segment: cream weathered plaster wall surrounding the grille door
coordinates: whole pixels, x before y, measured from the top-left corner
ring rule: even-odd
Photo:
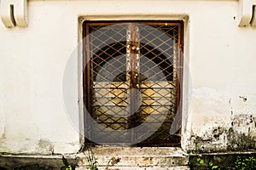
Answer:
[[[255,150],[256,29],[237,26],[237,1],[28,1],[28,27],[0,22],[0,152],[75,153],[79,127],[62,95],[84,20],[185,20],[183,149]],[[81,59],[69,110],[79,122]],[[75,123],[78,124],[78,123]]]

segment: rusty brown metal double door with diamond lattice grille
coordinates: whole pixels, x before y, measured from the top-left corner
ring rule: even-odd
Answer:
[[[85,133],[101,144],[179,146],[181,21],[85,22]],[[90,143],[90,140],[86,140]]]

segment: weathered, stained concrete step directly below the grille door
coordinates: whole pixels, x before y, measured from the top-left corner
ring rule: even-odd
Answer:
[[[189,169],[189,156],[174,147],[95,147],[78,156],[76,169],[88,169],[88,156],[92,154],[100,170]]]

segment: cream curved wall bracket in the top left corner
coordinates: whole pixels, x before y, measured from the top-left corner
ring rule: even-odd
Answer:
[[[0,0],[0,15],[6,27],[26,27],[27,0]]]

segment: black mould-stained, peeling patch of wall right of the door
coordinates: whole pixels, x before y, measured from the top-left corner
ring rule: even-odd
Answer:
[[[255,115],[239,114],[231,116],[228,125],[224,123],[214,125],[202,130],[203,133],[194,133],[191,136],[192,150],[201,153],[256,149]]]

